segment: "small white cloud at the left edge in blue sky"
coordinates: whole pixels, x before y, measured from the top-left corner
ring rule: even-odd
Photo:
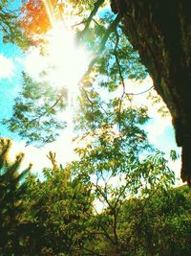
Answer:
[[[0,54],[0,79],[11,78],[14,69],[15,66],[13,60]]]

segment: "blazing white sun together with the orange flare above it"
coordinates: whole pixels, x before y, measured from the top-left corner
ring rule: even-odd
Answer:
[[[79,20],[71,1],[30,0],[23,8],[22,29],[33,48],[38,48],[35,56],[44,54],[39,61],[31,58],[33,70],[48,73],[46,80],[53,86],[74,90],[87,67],[86,51],[74,39],[73,25]]]

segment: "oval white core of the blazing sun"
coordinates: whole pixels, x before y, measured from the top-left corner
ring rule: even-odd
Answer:
[[[74,91],[88,64],[86,51],[77,47],[72,30],[57,23],[48,32],[46,52],[52,66],[50,80],[54,86]]]

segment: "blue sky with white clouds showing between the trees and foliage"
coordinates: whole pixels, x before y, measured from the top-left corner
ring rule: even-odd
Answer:
[[[16,3],[15,6],[17,6],[17,4],[18,3]],[[56,35],[53,36],[56,37]],[[68,41],[68,43],[66,43],[66,41]],[[13,100],[18,95],[22,85],[22,71],[26,71],[32,76],[32,78],[38,79],[41,70],[47,67],[49,61],[54,61],[55,65],[61,68],[58,69],[56,74],[53,74],[54,77],[50,77],[50,80],[55,77],[58,79],[57,81],[53,80],[53,85],[57,86],[57,83],[60,82],[61,79],[71,82],[74,85],[77,84],[76,81],[83,74],[87,65],[88,54],[84,53],[83,49],[74,49],[72,35],[63,34],[61,40],[59,40],[59,43],[61,44],[56,45],[56,43],[56,41],[52,41],[53,49],[50,48],[50,51],[53,51],[53,55],[51,58],[43,59],[40,57],[39,52],[34,48],[31,48],[28,52],[23,53],[17,46],[11,43],[4,44],[2,41],[2,34],[0,33],[0,119],[11,116]],[[63,49],[63,52],[61,53],[60,51],[55,53],[55,49],[63,48],[63,43],[65,43],[68,48]],[[73,56],[71,53],[73,53]],[[68,59],[66,59],[64,64],[63,58],[60,58],[60,55],[63,55],[64,58],[72,59],[71,62],[69,63]],[[78,62],[78,65],[76,65],[76,56],[81,60]],[[62,59],[61,65],[59,63],[60,59]],[[84,66],[82,63],[84,63]],[[65,77],[62,77],[63,68],[65,70],[68,68]],[[78,70],[78,74],[76,74],[75,77],[70,74],[71,69]],[[137,93],[150,88],[152,85],[152,80],[148,77],[140,84],[135,81],[126,81],[126,85],[129,92]],[[171,150],[180,152],[180,148],[177,148],[176,146],[174,128],[171,125],[171,118],[170,116],[162,118],[158,113],[159,105],[152,105],[151,101],[147,99],[147,96],[148,94],[135,96],[135,104],[148,106],[149,116],[151,117],[151,120],[147,126],[145,126],[145,129],[148,132],[148,138],[155,147],[157,147],[160,151],[164,151],[168,158]],[[73,110],[71,114],[72,113]],[[41,175],[42,168],[51,166],[50,160],[48,160],[46,156],[49,151],[55,151],[57,161],[62,164],[74,159],[74,146],[72,145],[72,138],[74,134],[71,132],[70,127],[63,130],[60,137],[55,142],[48,144],[41,149],[36,149],[33,146],[26,147],[25,142],[22,141],[19,136],[11,133],[2,125],[0,126],[0,135],[2,137],[11,137],[13,141],[11,157],[13,158],[19,151],[24,151],[25,160],[23,163],[23,169],[27,167],[29,162],[32,162],[32,171],[37,173],[39,176]],[[177,176],[180,176],[180,160],[176,161],[175,163],[170,162],[170,167],[175,170]]]

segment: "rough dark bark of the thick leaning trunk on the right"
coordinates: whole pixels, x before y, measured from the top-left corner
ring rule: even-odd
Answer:
[[[111,7],[171,112],[181,178],[191,185],[190,0],[111,0]]]

